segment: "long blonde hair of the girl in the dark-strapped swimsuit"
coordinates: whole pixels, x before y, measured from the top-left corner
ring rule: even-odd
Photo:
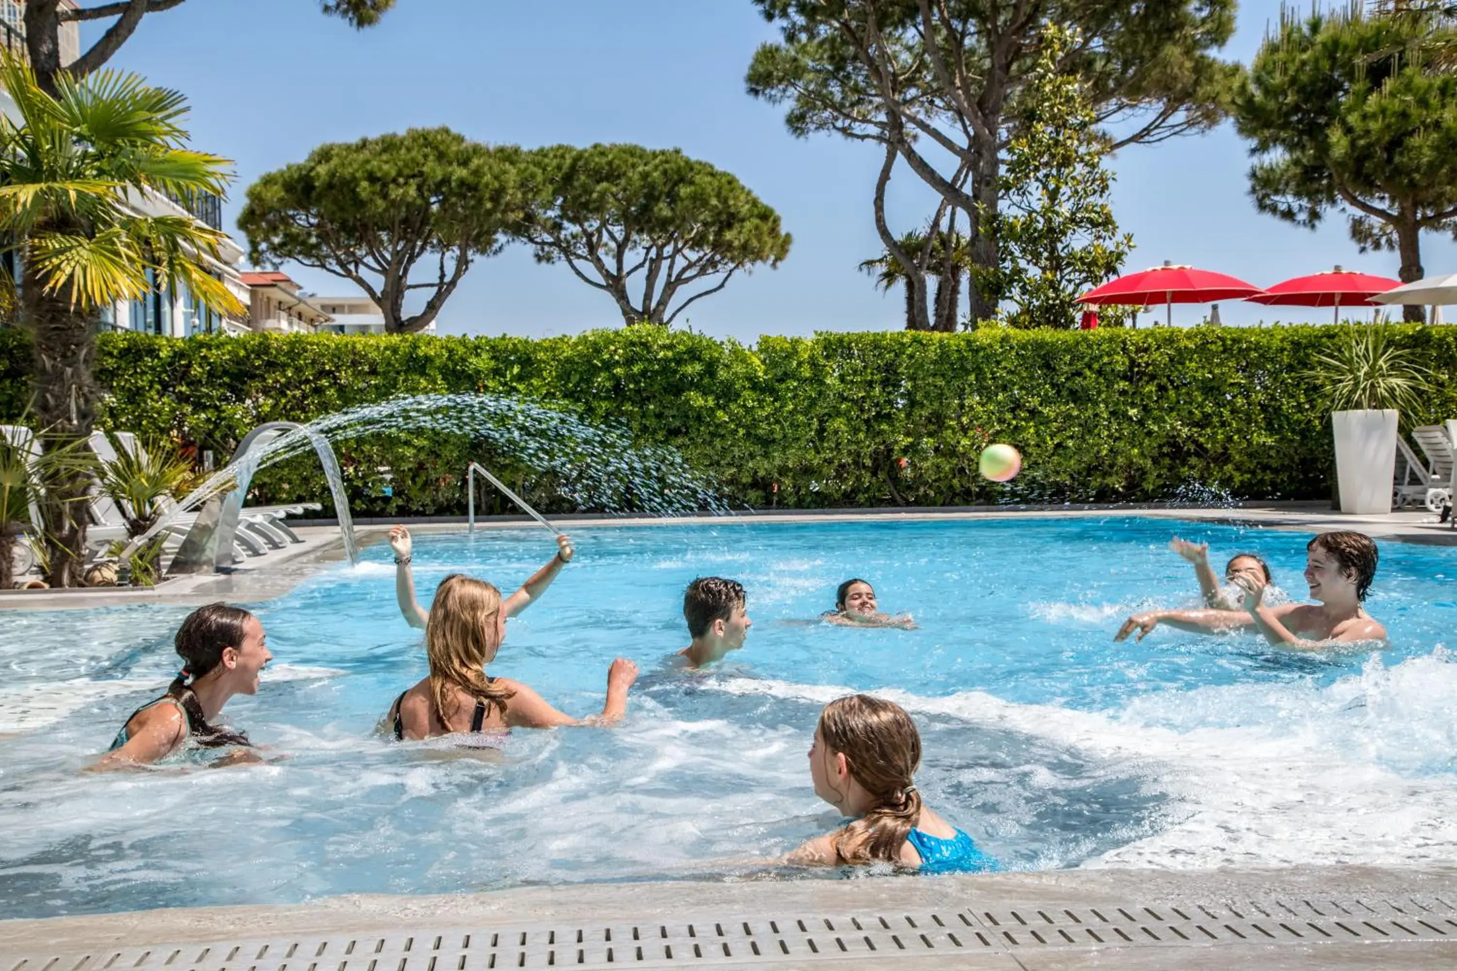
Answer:
[[[425,622],[425,657],[430,659],[430,703],[447,729],[450,715],[459,709],[456,689],[485,702],[506,718],[506,702],[516,691],[495,687],[485,680],[485,665],[501,646],[497,617],[501,591],[494,585],[450,574],[436,587]]]

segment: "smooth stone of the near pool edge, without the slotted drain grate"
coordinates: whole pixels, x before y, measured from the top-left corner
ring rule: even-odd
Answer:
[[[408,933],[520,924],[779,920],[889,914],[927,908],[1007,910],[1049,905],[1136,908],[1252,900],[1457,898],[1457,868],[1294,866],[1152,871],[1077,869],[937,878],[804,879],[785,882],[573,884],[452,895],[344,895],[291,905],[197,907],[0,920],[0,955],[70,958],[108,948],[268,940],[288,935]],[[1241,951],[1253,967],[1454,967],[1451,940],[1361,943],[1078,946],[1055,952],[959,955],[944,967],[1230,967]],[[916,964],[927,964],[925,958]],[[950,955],[947,955],[950,958]],[[975,958],[975,959],[972,959]],[[982,961],[985,958],[985,962]],[[941,961],[943,958],[932,958]],[[1109,964],[1112,961],[1112,964]],[[7,961],[12,965],[15,961]],[[82,961],[82,964],[86,964]],[[758,964],[758,962],[749,962]],[[844,965],[852,961],[841,961]],[[16,965],[22,967],[22,965]],[[23,967],[29,967],[25,964]],[[35,965],[39,968],[39,965]],[[270,965],[272,967],[272,965]],[[291,967],[291,964],[290,964]],[[305,965],[299,965],[305,967]],[[940,965],[937,965],[940,967]]]

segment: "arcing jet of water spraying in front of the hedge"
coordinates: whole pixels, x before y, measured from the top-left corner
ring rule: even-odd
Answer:
[[[557,491],[578,508],[605,512],[686,515],[731,512],[714,485],[678,451],[641,445],[627,428],[597,425],[570,412],[504,395],[415,395],[325,415],[251,448],[211,475],[144,536],[140,546],[175,518],[251,479],[259,469],[313,450],[319,437],[345,441],[363,435],[437,431],[484,440],[494,451],[557,476]],[[341,517],[348,511],[341,508]],[[351,556],[351,559],[356,559]]]

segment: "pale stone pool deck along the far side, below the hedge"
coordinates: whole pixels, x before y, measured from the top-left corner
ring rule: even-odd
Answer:
[[[951,507],[762,511],[731,517],[701,515],[675,518],[631,518],[600,515],[554,517],[565,530],[635,528],[660,526],[714,526],[731,528],[756,523],[954,523],[1016,518],[1106,518],[1138,515],[1174,521],[1225,523],[1273,530],[1319,533],[1359,530],[1381,540],[1457,546],[1457,530],[1437,523],[1431,512],[1402,511],[1386,515],[1345,515],[1327,502],[1257,502],[1250,505],[1190,508],[1169,505],[1053,505],[1053,507]],[[405,520],[356,520],[360,546],[385,540],[395,523],[409,526],[415,534],[459,533],[463,517],[427,517]],[[533,524],[525,515],[481,517],[478,530],[522,528]],[[90,590],[6,590],[0,591],[0,610],[66,610],[117,607],[138,603],[198,606],[214,600],[255,603],[280,597],[316,572],[319,563],[342,559],[338,526],[329,520],[300,520],[294,531],[303,543],[290,544],[268,556],[239,563],[226,575],[181,576],[150,590],[98,587]],[[1173,530],[1171,530],[1173,531]],[[0,971],[4,971],[0,968]]]

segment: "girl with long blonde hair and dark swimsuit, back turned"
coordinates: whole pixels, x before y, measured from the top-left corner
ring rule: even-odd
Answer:
[[[425,625],[430,677],[390,705],[385,724],[392,726],[395,738],[414,741],[506,728],[615,725],[622,719],[628,689],[637,680],[637,664],[627,658],[613,661],[608,668],[608,702],[602,715],[578,721],[558,712],[526,684],[485,673],[504,638],[501,591],[462,574],[440,581]]]

